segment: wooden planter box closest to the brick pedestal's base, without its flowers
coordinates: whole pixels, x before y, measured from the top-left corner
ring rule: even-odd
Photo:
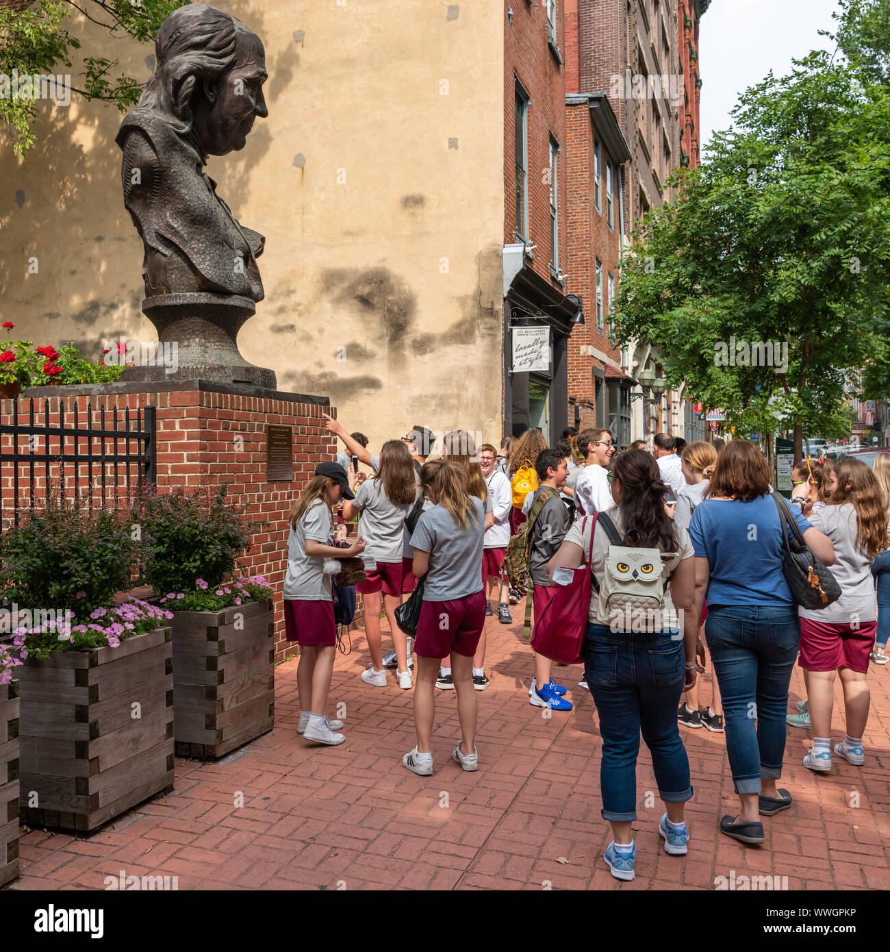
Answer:
[[[272,729],[272,602],[174,611],[174,737],[178,757],[212,760]]]

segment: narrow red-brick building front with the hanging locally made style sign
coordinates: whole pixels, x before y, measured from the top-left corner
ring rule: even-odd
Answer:
[[[540,426],[551,443],[568,418],[568,335],[582,313],[566,270],[562,2],[504,3],[504,432]],[[518,360],[517,347],[538,359]]]

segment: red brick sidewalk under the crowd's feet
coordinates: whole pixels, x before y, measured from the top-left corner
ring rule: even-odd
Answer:
[[[764,819],[760,849],[717,830],[738,804],[723,735],[682,727],[695,787],[691,839],[688,856],[666,856],[657,832],[663,806],[643,744],[637,878],[619,883],[603,863],[611,837],[600,816],[600,740],[592,699],[577,686],[581,668],[555,667],[576,709],[546,720],[527,701],[532,663],[521,605],[513,617],[510,626],[486,619],[491,684],[479,695],[478,773],[450,760],[460,737],[451,691],[436,692],[435,773],[405,770],[402,755],[414,745],[411,692],[392,678],[386,689],[363,684],[365,638],[352,632],[328,705],[333,716],[346,704],[346,744],[312,746],[299,737],[297,662],[287,662],[276,670],[274,731],[216,764],[177,761],[167,797],[90,837],[23,835],[22,875],[9,888],[101,889],[121,870],[175,875],[180,889],[712,889],[731,870],[737,880],[787,876],[790,889],[890,887],[886,668],[870,676],[864,767],[836,763],[830,776],[816,777],[801,764],[809,732],[789,728],[781,785],[795,804]],[[709,681],[710,672],[702,700]],[[792,709],[801,690],[796,669]],[[834,733],[842,739],[837,713]]]

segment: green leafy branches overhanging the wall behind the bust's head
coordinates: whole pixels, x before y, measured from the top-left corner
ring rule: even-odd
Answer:
[[[0,73],[19,76],[56,74],[78,61],[78,85],[71,90],[86,99],[112,103],[122,112],[134,106],[143,84],[121,71],[120,61],[81,52],[69,32],[70,17],[80,14],[109,31],[113,39],[131,36],[140,43],[154,39],[161,24],[189,0],[35,0],[25,10],[0,7]],[[25,155],[34,145],[37,108],[32,98],[0,98],[0,117],[10,129],[13,149]]]

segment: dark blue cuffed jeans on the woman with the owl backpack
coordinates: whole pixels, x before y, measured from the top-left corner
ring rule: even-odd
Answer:
[[[665,803],[692,797],[689,759],[677,725],[684,657],[677,632],[616,633],[608,625],[587,625],[584,675],[600,715],[603,820],[637,819],[641,729],[659,796]]]

